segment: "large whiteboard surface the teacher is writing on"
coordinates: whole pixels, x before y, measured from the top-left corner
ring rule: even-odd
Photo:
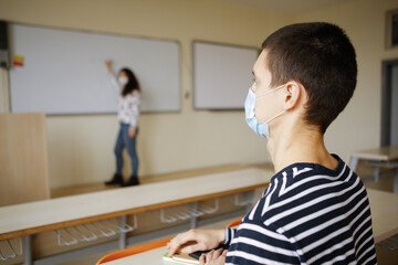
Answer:
[[[10,70],[14,113],[116,113],[119,92],[105,60],[136,74],[143,112],[180,109],[177,42],[10,24],[10,46],[23,56],[23,66]]]

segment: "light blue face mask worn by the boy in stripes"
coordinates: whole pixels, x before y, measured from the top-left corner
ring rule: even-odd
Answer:
[[[245,113],[245,120],[247,124],[249,125],[249,127],[254,130],[255,134],[258,134],[259,136],[269,139],[270,138],[270,129],[269,129],[269,123],[275,118],[277,118],[280,115],[282,115],[285,110],[280,112],[279,114],[276,114],[275,116],[273,116],[272,118],[270,118],[269,120],[261,123],[255,118],[255,98],[256,97],[262,97],[265,96],[272,92],[275,92],[280,88],[282,88],[285,85],[281,85],[279,87],[275,87],[269,92],[266,92],[265,94],[255,96],[255,94],[253,93],[253,91],[251,88],[249,88],[249,94],[248,97],[244,102],[244,113]]]

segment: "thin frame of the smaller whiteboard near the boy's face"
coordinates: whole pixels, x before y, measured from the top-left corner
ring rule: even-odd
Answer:
[[[205,40],[193,40],[191,43],[191,51],[192,51],[192,106],[195,110],[210,110],[210,112],[241,112],[244,110],[244,106],[242,105],[241,107],[230,107],[230,108],[209,108],[209,107],[198,107],[196,105],[196,93],[197,93],[197,88],[196,86],[196,67],[195,67],[195,63],[196,63],[196,57],[195,57],[195,44],[196,43],[203,43],[203,44],[211,44],[211,45],[219,45],[219,46],[226,46],[226,47],[239,47],[239,49],[245,49],[245,50],[251,50],[251,51],[256,51],[258,52],[258,56],[261,53],[261,49],[255,47],[255,46],[250,46],[250,45],[239,45],[239,44],[230,44],[230,43],[222,43],[222,42],[213,42],[213,41],[205,41]],[[254,63],[254,62],[253,62]],[[249,88],[249,87],[248,87]],[[243,99],[244,100],[244,99]]]

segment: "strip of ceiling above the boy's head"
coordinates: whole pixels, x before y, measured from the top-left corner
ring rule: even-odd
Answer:
[[[285,13],[303,13],[322,9],[331,6],[336,6],[347,0],[223,0],[226,2],[233,2],[240,6],[262,8],[269,11],[277,11]]]

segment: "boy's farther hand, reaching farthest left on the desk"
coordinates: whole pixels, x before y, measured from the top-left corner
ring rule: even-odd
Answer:
[[[178,234],[167,244],[168,255],[172,256],[177,250],[185,254],[212,250],[219,246],[224,237],[224,230],[190,230]]]

